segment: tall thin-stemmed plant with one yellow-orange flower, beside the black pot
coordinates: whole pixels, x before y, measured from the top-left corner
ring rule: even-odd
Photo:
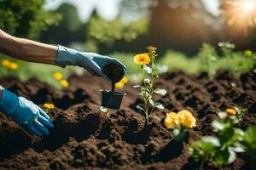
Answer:
[[[137,105],[137,109],[145,113],[147,122],[151,119],[155,108],[164,109],[164,106],[159,102],[154,102],[153,95],[160,94],[166,95],[166,90],[161,88],[154,88],[154,81],[159,77],[160,68],[156,67],[154,63],[156,49],[154,47],[148,47],[148,53],[137,54],[134,57],[134,62],[141,66],[143,75],[143,85],[134,86],[134,88],[140,88],[140,95],[143,96],[143,105]]]

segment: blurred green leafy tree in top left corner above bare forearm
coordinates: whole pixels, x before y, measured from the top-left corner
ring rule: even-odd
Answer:
[[[61,20],[45,11],[44,0],[0,0],[0,28],[17,37],[38,38],[41,31]]]

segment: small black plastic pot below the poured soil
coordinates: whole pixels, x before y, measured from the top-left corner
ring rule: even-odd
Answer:
[[[100,90],[102,92],[102,106],[108,109],[119,110],[123,97],[126,95],[122,92],[110,92],[109,90]]]

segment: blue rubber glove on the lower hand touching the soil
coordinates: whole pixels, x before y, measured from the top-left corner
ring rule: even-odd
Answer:
[[[38,105],[23,97],[18,97],[7,89],[2,91],[0,111],[11,116],[20,127],[38,136],[48,135],[47,127],[54,127],[49,116]]]

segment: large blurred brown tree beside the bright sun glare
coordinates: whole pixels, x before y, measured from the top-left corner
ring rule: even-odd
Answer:
[[[151,42],[194,55],[203,42],[218,42],[222,20],[210,14],[201,0],[158,0],[150,20]]]

